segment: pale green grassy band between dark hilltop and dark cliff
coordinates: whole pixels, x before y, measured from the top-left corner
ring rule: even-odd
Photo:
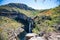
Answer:
[[[25,14],[28,17],[34,17],[34,16],[36,16],[39,13],[38,10],[32,10],[31,11],[31,10],[24,10],[24,9],[20,9],[20,8],[16,8],[16,7],[9,7],[9,6],[1,6],[0,10],[1,9],[5,9],[5,10],[8,10],[10,12],[23,13],[23,14]]]

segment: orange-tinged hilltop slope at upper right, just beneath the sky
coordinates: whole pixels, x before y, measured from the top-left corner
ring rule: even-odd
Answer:
[[[40,13],[43,13],[45,15],[52,15],[52,14],[60,13],[60,5],[55,7],[55,8],[51,8],[51,9],[47,9],[47,10],[42,10]]]

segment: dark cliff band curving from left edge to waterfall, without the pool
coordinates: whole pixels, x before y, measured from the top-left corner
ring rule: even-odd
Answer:
[[[33,19],[31,19],[30,17],[27,17],[23,13],[19,13],[19,12],[18,13],[17,12],[5,12],[5,11],[7,11],[7,10],[4,10],[4,12],[0,12],[0,16],[13,18],[17,22],[22,23],[24,25],[23,29],[27,33],[29,33],[29,24],[31,23],[30,27],[31,27],[31,31],[32,31],[32,28],[34,27]]]

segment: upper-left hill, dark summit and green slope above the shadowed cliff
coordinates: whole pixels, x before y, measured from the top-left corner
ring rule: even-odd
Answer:
[[[28,17],[32,17],[37,11],[25,4],[21,3],[9,3],[7,5],[0,6],[0,12],[20,12]]]

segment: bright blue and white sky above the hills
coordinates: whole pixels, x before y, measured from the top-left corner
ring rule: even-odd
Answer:
[[[35,2],[34,0],[0,0],[0,6],[8,3],[23,3],[28,5],[29,7],[39,10],[50,9],[60,5],[58,2],[56,2],[56,0],[37,0],[37,2]]]

